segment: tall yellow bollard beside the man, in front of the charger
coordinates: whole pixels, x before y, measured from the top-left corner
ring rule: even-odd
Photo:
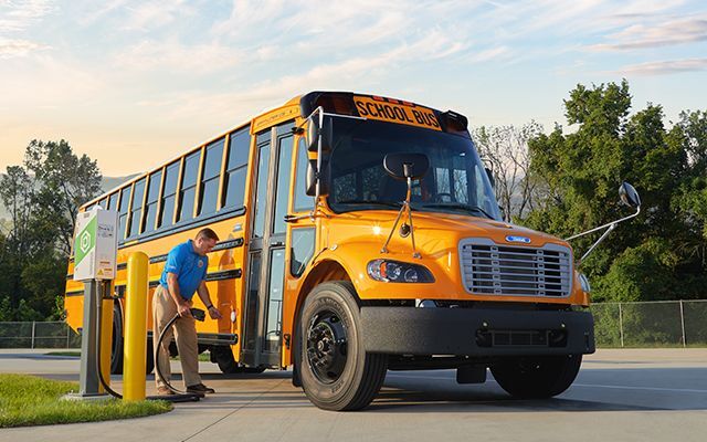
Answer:
[[[123,359],[123,399],[126,401],[145,400],[148,263],[143,252],[128,257]]]

